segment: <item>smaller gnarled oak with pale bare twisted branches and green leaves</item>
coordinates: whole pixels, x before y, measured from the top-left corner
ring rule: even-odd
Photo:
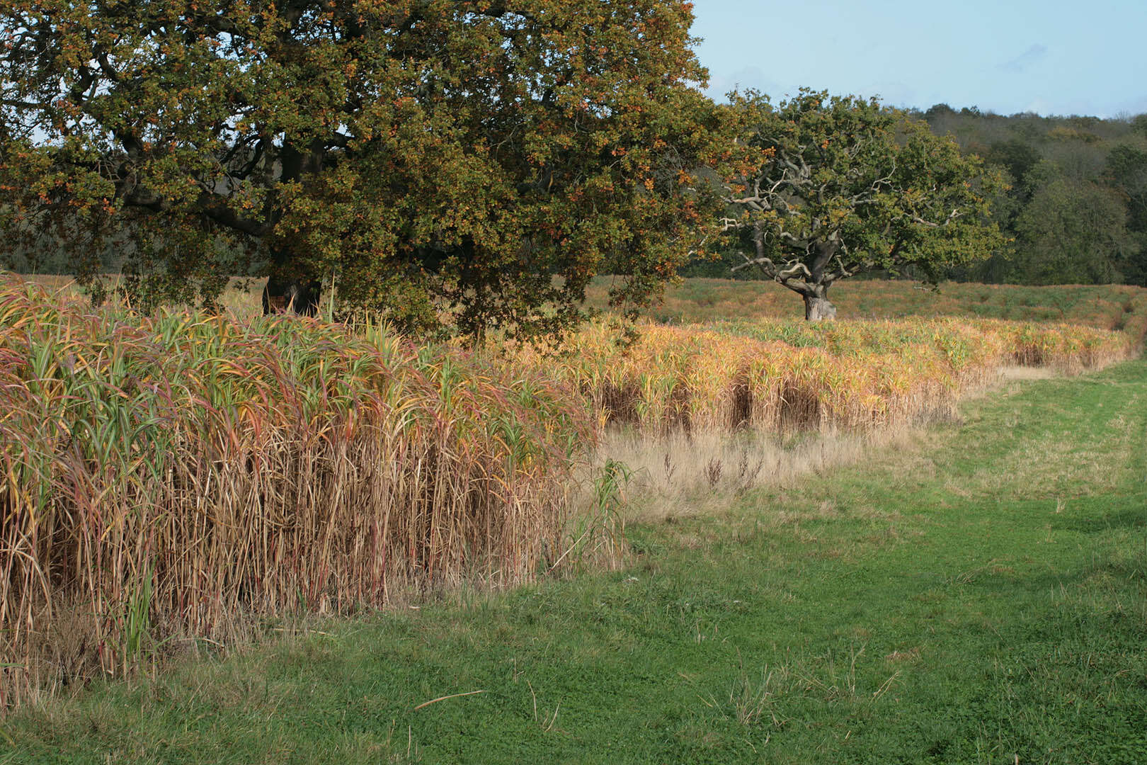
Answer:
[[[914,266],[935,282],[1000,241],[985,223],[999,177],[922,122],[812,91],[777,106],[734,93],[731,108],[758,159],[728,185],[721,228],[754,248],[736,268],[798,292],[806,319],[835,318],[828,288],[840,279]]]

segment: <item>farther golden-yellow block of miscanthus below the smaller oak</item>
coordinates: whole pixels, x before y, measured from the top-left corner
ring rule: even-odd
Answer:
[[[1078,372],[1136,352],[1125,333],[943,318],[645,323],[631,344],[601,322],[576,333],[556,359],[531,348],[510,356],[577,387],[603,424],[663,436],[903,427],[950,416],[1001,366]]]

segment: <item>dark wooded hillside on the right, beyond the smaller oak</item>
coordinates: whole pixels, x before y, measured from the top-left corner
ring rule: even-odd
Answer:
[[[992,202],[1006,243],[950,279],[1147,286],[1147,115],[1005,117],[947,104],[908,114],[1000,167],[1011,186]],[[731,252],[724,263],[693,264],[685,273],[727,275],[740,259]]]

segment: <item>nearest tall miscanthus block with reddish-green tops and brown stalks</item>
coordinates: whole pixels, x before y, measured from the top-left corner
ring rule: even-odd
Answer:
[[[593,434],[544,375],[380,327],[0,282],[0,705],[251,617],[522,580]]]

